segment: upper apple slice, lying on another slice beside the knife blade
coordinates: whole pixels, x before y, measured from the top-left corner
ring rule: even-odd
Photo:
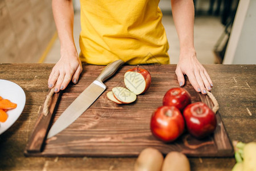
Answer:
[[[113,96],[121,103],[128,104],[136,100],[137,96],[135,93],[129,91],[124,87],[114,87],[112,88]]]

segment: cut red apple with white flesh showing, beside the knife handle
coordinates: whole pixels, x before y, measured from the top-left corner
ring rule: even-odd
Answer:
[[[140,95],[147,91],[151,84],[151,75],[149,72],[139,66],[132,68],[124,74],[125,86],[135,93]]]

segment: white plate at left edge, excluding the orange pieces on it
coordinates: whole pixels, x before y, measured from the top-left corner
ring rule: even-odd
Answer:
[[[11,109],[7,111],[7,115],[8,115],[7,120],[4,123],[0,122],[0,135],[1,135],[8,128],[10,128],[11,125],[13,125],[21,115],[25,107],[26,95],[23,89],[18,86],[18,84],[0,79],[0,96],[3,99],[8,99],[11,102],[17,104],[17,107],[15,109]]]

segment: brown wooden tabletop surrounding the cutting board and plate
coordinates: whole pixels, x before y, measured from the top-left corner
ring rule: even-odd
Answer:
[[[39,107],[48,93],[47,80],[53,66],[0,64],[0,79],[19,84],[26,93],[22,115],[0,135],[0,170],[133,170],[136,161],[133,157],[24,156]],[[90,66],[83,67],[86,72]],[[212,93],[220,104],[230,140],[256,141],[256,66],[208,64],[205,68],[213,80]],[[234,158],[193,157],[189,161],[192,170],[230,170],[235,164]]]

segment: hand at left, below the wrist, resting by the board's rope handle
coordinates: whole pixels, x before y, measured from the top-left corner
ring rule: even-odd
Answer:
[[[54,92],[59,92],[67,87],[71,79],[76,84],[82,71],[82,63],[77,54],[63,54],[52,68],[48,79],[48,87],[53,88],[55,85]]]

